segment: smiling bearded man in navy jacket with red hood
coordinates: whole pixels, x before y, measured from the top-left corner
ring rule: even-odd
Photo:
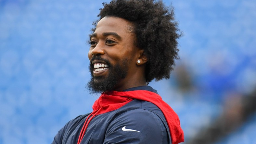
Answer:
[[[102,92],[93,112],[68,122],[53,144],[177,144],[184,141],[177,114],[147,86],[169,78],[181,36],[173,9],[161,1],[103,3],[90,35],[91,80]]]

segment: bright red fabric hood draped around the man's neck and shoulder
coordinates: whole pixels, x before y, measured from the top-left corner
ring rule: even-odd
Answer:
[[[107,91],[102,93],[99,99],[93,104],[93,111],[96,115],[116,110],[133,99],[152,102],[160,108],[168,124],[172,144],[178,144],[184,141],[184,133],[180,126],[178,115],[173,109],[162,100],[157,93],[147,90],[134,91]]]

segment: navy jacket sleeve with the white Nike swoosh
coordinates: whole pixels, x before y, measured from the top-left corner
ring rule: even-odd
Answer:
[[[125,112],[108,126],[104,144],[169,144],[167,130],[160,118],[143,109]]]

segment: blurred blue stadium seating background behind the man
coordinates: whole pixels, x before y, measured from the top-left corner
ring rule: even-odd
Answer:
[[[0,144],[47,144],[92,111],[88,34],[109,0],[0,0]],[[256,144],[256,1],[164,0],[184,36],[170,80],[151,82],[184,144]]]

